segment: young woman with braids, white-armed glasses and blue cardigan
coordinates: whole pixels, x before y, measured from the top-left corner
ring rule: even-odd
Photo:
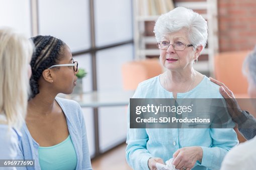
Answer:
[[[92,169],[86,125],[79,104],[56,97],[76,84],[78,63],[68,46],[51,36],[32,38],[32,95],[19,156],[34,159],[27,169]]]

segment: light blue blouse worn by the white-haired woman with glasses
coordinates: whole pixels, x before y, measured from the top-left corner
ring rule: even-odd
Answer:
[[[140,83],[133,98],[173,98],[173,93],[165,90],[159,76],[156,76]],[[205,76],[194,89],[178,93],[177,98],[223,97],[219,86]],[[136,170],[148,169],[150,157],[161,157],[166,161],[173,157],[175,151],[186,146],[201,146],[203,149],[202,162],[197,161],[193,169],[220,169],[225,154],[238,143],[232,128],[130,129],[129,113],[128,107],[126,159]]]

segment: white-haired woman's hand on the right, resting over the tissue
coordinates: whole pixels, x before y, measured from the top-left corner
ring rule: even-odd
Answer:
[[[173,165],[176,169],[190,170],[197,160],[202,161],[203,149],[200,146],[183,147],[178,149],[173,156]]]

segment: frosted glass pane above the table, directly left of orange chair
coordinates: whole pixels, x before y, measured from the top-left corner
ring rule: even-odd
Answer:
[[[122,64],[133,59],[133,45],[123,45],[97,54],[98,90],[122,90]]]

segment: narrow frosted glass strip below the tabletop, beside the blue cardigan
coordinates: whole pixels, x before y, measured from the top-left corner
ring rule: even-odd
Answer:
[[[92,108],[82,108],[84,120],[86,122],[87,139],[90,155],[95,154],[94,117]]]

